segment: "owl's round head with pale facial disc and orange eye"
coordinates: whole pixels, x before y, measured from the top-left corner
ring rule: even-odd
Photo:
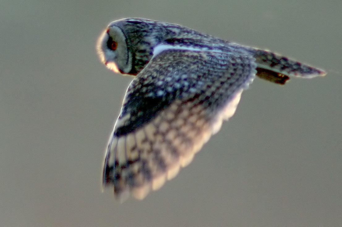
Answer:
[[[141,18],[111,22],[97,41],[101,61],[116,73],[136,75],[150,61],[153,47],[170,34],[165,24]]]

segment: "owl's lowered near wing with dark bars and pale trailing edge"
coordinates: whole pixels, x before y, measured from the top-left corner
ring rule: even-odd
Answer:
[[[230,118],[256,73],[250,54],[165,50],[133,79],[105,155],[103,184],[143,199],[188,165]]]

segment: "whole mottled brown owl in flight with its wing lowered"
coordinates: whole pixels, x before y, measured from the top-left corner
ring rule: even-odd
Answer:
[[[123,201],[143,199],[188,165],[233,116],[255,76],[285,84],[323,70],[270,51],[142,18],[114,21],[97,52],[107,68],[131,75],[110,134],[103,185]]]

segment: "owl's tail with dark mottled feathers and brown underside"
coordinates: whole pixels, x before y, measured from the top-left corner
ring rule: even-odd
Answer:
[[[250,49],[257,63],[257,76],[273,83],[285,84],[289,76],[300,78],[313,78],[325,76],[326,72],[275,54],[270,51],[260,49]]]

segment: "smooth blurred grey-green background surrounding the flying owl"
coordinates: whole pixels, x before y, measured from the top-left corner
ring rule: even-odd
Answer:
[[[0,225],[341,226],[342,2],[1,1]],[[95,42],[124,17],[178,23],[324,68],[255,79],[194,161],[143,201],[101,191],[131,77]]]

